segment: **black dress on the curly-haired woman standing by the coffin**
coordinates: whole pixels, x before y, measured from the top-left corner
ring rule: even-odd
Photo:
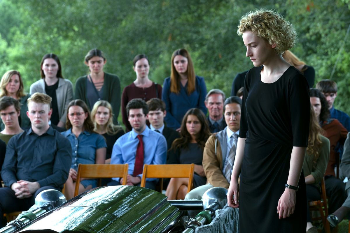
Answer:
[[[306,190],[303,174],[294,214],[279,219],[278,200],[288,180],[293,146],[306,147],[309,134],[309,88],[293,66],[273,83],[252,68],[244,83],[239,137],[245,141],[239,189],[239,232],[304,233]]]

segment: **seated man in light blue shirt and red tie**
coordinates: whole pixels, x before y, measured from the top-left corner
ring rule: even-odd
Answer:
[[[126,105],[132,130],[118,138],[113,146],[111,164],[128,163],[127,185],[140,186],[144,164],[165,164],[165,137],[146,126],[148,107],[144,100],[133,99]],[[138,160],[142,156],[142,161]],[[155,189],[157,179],[146,179],[146,188]],[[107,185],[120,185],[123,178],[112,178]]]

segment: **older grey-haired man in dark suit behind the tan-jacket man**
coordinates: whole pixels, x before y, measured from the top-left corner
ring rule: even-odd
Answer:
[[[205,96],[204,103],[209,111],[207,120],[211,133],[219,132],[226,127],[223,110],[224,100],[225,94],[219,89],[211,89]]]

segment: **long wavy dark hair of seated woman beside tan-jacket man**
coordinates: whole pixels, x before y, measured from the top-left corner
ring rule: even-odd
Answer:
[[[181,127],[180,127],[180,129],[181,129],[180,138],[177,138],[173,141],[173,144],[172,144],[172,147],[170,148],[170,150],[177,150],[180,148],[188,148],[188,145],[190,144],[190,141],[192,139],[191,134],[187,131],[187,128],[186,128],[187,117],[189,115],[196,116],[198,118],[199,122],[201,123],[201,130],[196,135],[196,141],[200,145],[200,147],[202,149],[204,149],[205,142],[207,142],[209,136],[211,135],[210,130],[209,130],[209,125],[208,125],[207,119],[205,118],[205,115],[201,109],[191,108],[186,112],[185,116],[182,119],[182,123],[181,123]]]

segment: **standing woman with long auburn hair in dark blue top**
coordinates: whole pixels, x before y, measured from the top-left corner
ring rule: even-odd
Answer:
[[[191,108],[199,108],[207,114],[207,108],[204,105],[206,94],[204,78],[195,75],[188,51],[176,50],[172,55],[170,77],[164,80],[162,91],[162,100],[166,104],[167,126],[180,131],[182,118]]]

